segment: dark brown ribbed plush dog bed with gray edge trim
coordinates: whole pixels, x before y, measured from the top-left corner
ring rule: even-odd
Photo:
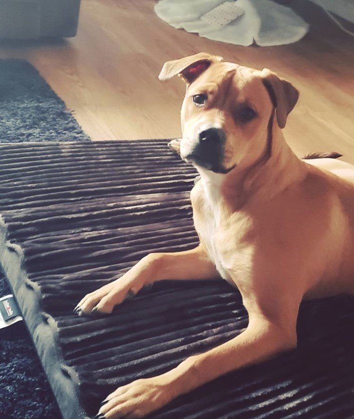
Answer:
[[[116,387],[162,373],[240,333],[237,289],[165,281],[112,315],[77,317],[88,292],[152,251],[196,246],[196,177],[166,140],[0,145],[0,261],[65,419],[94,415]],[[151,417],[350,417],[350,297],[302,306],[297,350],[173,400]]]

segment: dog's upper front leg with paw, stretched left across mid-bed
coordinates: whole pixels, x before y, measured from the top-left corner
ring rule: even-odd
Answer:
[[[76,306],[79,315],[111,313],[114,306],[143,286],[163,279],[210,279],[219,274],[202,245],[175,253],[151,253],[117,280],[87,294]]]

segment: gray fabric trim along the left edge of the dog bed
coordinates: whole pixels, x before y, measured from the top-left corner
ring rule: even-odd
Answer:
[[[64,418],[86,419],[88,416],[79,402],[77,374],[65,364],[58,344],[57,324],[48,313],[42,311],[40,287],[27,277],[23,266],[23,250],[7,240],[7,233],[6,224],[1,218],[0,261],[21,307],[54,395],[58,400],[67,400],[67,403],[59,405],[62,415]]]

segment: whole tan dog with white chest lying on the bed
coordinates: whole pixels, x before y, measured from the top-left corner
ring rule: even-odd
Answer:
[[[240,290],[249,325],[162,375],[118,388],[98,417],[142,417],[219,375],[294,348],[302,299],[354,293],[354,166],[305,162],[290,150],[280,128],[297,90],[269,70],[204,53],[166,63],[160,79],[175,75],[187,83],[181,156],[201,174],[191,193],[200,245],[146,256],[76,311],[110,313],[129,292],[164,278],[221,275]]]

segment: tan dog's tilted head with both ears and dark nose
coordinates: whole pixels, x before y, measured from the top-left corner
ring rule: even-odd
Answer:
[[[206,53],[168,61],[159,79],[176,75],[187,84],[181,157],[216,173],[256,161],[268,146],[273,116],[283,128],[298,99],[298,91],[268,69],[242,67]]]

